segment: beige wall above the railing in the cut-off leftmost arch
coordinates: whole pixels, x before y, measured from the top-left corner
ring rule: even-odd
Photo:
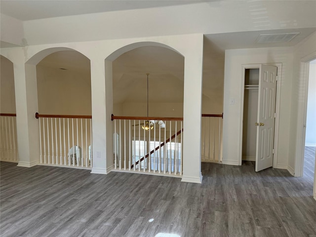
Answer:
[[[13,63],[3,56],[0,60],[0,113],[15,114]]]

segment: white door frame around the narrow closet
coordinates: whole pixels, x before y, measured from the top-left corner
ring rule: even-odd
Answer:
[[[274,135],[274,155],[273,155],[273,167],[274,168],[287,168],[279,167],[277,164],[277,152],[278,152],[278,130],[279,130],[279,111],[280,111],[280,94],[281,94],[281,79],[282,79],[282,63],[260,63],[260,64],[242,64],[241,65],[241,103],[240,103],[240,124],[239,124],[239,159],[238,165],[242,164],[242,129],[243,129],[243,104],[244,104],[244,87],[245,87],[245,70],[260,68],[261,65],[270,65],[277,68],[276,76],[276,120],[275,120],[275,135]]]

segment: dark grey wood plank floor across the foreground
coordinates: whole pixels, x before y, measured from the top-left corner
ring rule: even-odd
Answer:
[[[315,162],[315,158],[314,158]],[[308,165],[310,166],[310,165]],[[316,237],[313,178],[202,163],[179,178],[1,162],[1,237]]]

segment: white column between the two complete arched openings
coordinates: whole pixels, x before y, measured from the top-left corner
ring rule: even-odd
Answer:
[[[112,169],[112,62],[99,56],[90,57],[92,103],[92,170],[107,174]],[[106,69],[105,69],[106,68]],[[107,76],[107,77],[106,77]],[[111,78],[111,80],[105,78]]]

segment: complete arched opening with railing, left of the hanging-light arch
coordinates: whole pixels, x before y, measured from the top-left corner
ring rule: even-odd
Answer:
[[[45,49],[26,63],[26,79],[36,82],[39,163],[91,168],[90,60],[69,48]]]

